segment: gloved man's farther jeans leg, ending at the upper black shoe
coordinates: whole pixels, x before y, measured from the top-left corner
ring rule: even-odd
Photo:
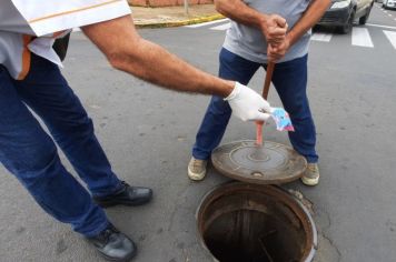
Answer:
[[[31,72],[16,84],[20,97],[44,121],[91,193],[99,196],[117,191],[121,183],[95,135],[92,120],[59,68],[33,56]]]

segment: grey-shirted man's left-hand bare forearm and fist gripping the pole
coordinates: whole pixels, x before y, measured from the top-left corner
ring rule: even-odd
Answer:
[[[286,20],[278,14],[260,13],[241,0],[215,0],[216,10],[231,20],[259,29],[270,43],[285,39]]]

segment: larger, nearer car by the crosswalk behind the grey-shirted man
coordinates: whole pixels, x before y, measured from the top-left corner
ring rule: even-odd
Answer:
[[[359,24],[366,23],[373,4],[374,0],[331,0],[330,7],[317,24],[335,26],[341,33],[349,33],[356,19]]]

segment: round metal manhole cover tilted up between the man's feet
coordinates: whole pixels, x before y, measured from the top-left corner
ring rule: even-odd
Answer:
[[[211,153],[214,167],[231,179],[259,184],[279,184],[297,180],[307,168],[306,159],[290,147],[254,140],[222,144]]]

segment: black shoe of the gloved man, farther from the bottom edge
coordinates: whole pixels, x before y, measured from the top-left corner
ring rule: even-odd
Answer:
[[[118,192],[106,196],[93,196],[97,204],[102,208],[109,208],[117,204],[140,205],[150,202],[152,190],[148,188],[130,187],[122,181],[122,189]]]

